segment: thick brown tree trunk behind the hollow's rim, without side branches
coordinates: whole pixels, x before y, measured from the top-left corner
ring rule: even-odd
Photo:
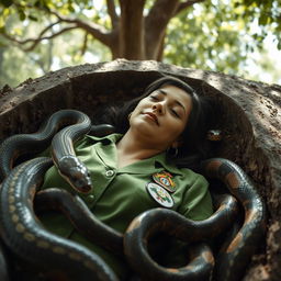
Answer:
[[[112,30],[109,45],[114,59],[160,60],[162,58],[166,29],[180,2],[157,0],[146,16],[145,2],[145,0],[120,0],[120,23]]]

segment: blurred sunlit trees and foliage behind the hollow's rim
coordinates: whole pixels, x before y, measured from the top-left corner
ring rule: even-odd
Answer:
[[[120,57],[280,81],[280,0],[0,0],[0,87]]]

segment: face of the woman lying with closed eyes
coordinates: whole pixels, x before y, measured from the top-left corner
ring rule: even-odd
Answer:
[[[190,94],[176,86],[166,85],[139,101],[132,112],[130,125],[160,149],[176,147],[191,108]]]

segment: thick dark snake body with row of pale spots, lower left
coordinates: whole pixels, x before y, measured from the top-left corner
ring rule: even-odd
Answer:
[[[104,261],[76,243],[46,232],[33,211],[49,158],[34,158],[14,168],[0,191],[0,227],[4,243],[33,265],[67,274],[69,280],[116,281]]]

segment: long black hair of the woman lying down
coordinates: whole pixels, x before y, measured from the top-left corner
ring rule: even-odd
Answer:
[[[207,139],[206,133],[210,128],[210,120],[212,117],[212,104],[209,98],[199,95],[196,91],[181,79],[172,76],[164,76],[145,89],[144,93],[122,106],[111,108],[106,122],[114,125],[115,132],[125,134],[130,127],[128,114],[134,111],[138,102],[153,91],[162,86],[170,85],[184,90],[192,101],[191,112],[189,114],[187,126],[181,134],[182,146],[178,148],[178,155],[167,153],[169,161],[173,161],[178,167],[187,167],[198,169],[200,160],[206,158]]]

